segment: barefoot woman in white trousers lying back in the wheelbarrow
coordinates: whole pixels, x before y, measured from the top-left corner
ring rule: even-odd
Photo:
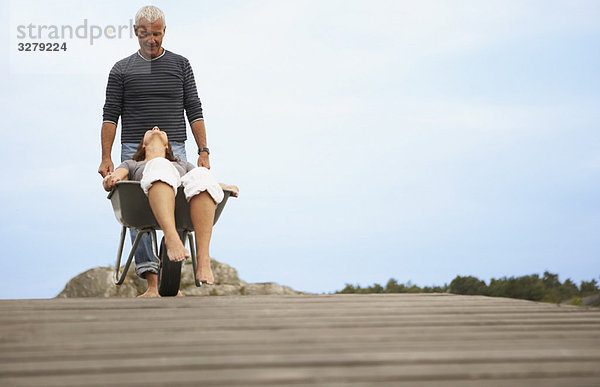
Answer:
[[[214,277],[208,250],[215,207],[223,200],[223,188],[233,191],[232,196],[237,196],[238,188],[219,184],[214,175],[204,167],[176,160],[167,134],[156,126],[146,132],[133,158],[104,178],[104,189],[110,191],[118,181],[127,179],[139,181],[148,196],[154,217],[165,234],[167,256],[173,262],[190,257],[175,225],[175,195],[177,188],[183,185],[196,234],[196,279],[212,285]],[[148,281],[148,290],[144,296],[159,296],[155,280]]]

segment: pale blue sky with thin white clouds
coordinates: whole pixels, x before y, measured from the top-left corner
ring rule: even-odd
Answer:
[[[114,264],[99,129],[138,46],[23,53],[16,26],[126,25],[144,3],[0,4],[0,298],[53,297]],[[213,171],[241,189],[211,250],[242,279],[598,278],[600,1],[153,4],[194,69]]]

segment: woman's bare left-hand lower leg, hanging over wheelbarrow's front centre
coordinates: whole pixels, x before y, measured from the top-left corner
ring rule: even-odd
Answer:
[[[173,188],[157,181],[148,190],[148,201],[152,213],[165,234],[167,256],[173,262],[181,262],[189,258],[190,253],[185,249],[175,227],[175,191]]]

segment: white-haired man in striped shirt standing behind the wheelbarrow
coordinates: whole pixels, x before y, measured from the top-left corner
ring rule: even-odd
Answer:
[[[198,166],[210,169],[194,74],[186,58],[162,47],[166,31],[163,12],[154,6],[141,8],[135,16],[134,30],[139,51],[117,62],[108,77],[101,129],[102,162],[98,173],[105,177],[114,171],[111,150],[119,117],[121,161],[133,156],[146,131],[154,126],[168,134],[175,157],[187,161],[184,110],[198,145]],[[132,240],[135,235],[137,232],[131,230]],[[149,235],[145,235],[135,253],[136,274],[148,282],[148,289],[140,297],[159,296],[159,263],[151,246]],[[208,267],[202,266],[198,274],[208,283],[212,282],[210,261]]]

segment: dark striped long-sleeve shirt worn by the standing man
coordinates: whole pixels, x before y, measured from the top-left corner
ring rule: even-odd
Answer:
[[[183,56],[164,50],[147,60],[136,52],[110,71],[103,122],[116,125],[121,117],[121,142],[139,143],[154,126],[170,141],[185,141],[184,109],[190,124],[203,119],[194,73]]]

